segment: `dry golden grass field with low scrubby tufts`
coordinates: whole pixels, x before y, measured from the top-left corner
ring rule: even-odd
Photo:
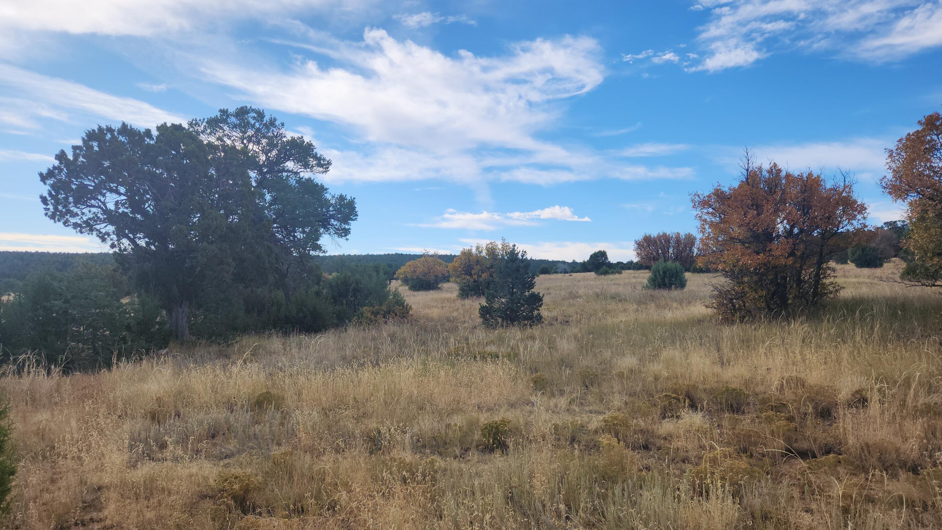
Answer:
[[[456,287],[404,323],[4,377],[17,528],[938,528],[942,297],[724,326],[645,272],[546,276],[544,325]]]

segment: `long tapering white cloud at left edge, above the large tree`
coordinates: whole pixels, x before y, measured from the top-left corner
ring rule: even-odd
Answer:
[[[144,127],[185,121],[151,104],[9,64],[0,63],[0,87],[8,88],[10,94],[0,98],[0,121],[24,127],[37,128],[37,118],[70,120],[72,114],[124,120]]]

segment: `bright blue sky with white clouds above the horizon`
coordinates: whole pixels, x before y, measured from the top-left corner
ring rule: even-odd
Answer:
[[[100,249],[42,215],[37,173],[99,123],[260,106],[333,160],[360,218],[332,252],[630,259],[694,232],[743,147],[853,171],[942,104],[942,2],[7,0],[0,249]]]

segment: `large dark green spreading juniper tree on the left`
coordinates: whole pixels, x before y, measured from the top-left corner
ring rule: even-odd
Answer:
[[[98,126],[56,162],[40,174],[46,216],[115,249],[178,340],[191,309],[290,299],[315,276],[321,239],[346,238],[357,217],[313,178],[331,166],[314,144],[251,107],[153,132]]]

